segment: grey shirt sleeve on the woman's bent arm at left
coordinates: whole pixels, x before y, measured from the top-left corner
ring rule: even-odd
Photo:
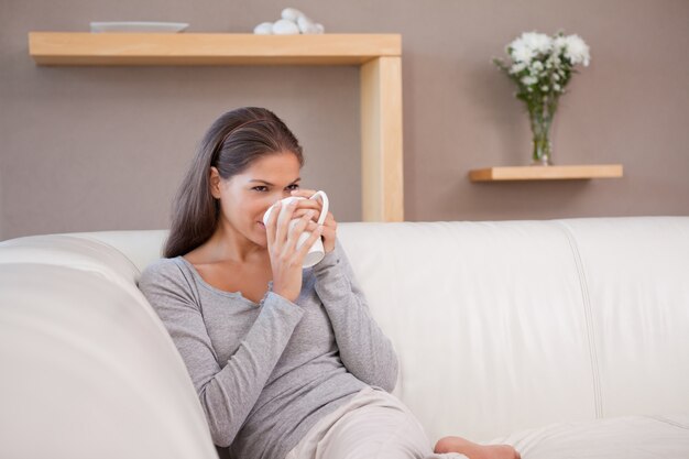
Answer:
[[[214,442],[230,446],[299,323],[303,308],[269,289],[253,326],[221,368],[198,300],[179,266],[169,260],[150,266],[139,288],[182,354]]]

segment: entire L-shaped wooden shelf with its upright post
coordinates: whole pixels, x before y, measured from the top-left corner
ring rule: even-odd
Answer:
[[[362,220],[403,221],[402,36],[30,32],[37,65],[358,65]]]

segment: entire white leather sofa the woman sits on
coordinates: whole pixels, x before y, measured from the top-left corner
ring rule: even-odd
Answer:
[[[689,458],[689,217],[340,223],[433,441]],[[135,286],[165,231],[0,243],[0,457],[214,458]]]

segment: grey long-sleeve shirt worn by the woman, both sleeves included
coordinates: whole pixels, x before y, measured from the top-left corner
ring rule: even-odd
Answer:
[[[367,384],[394,389],[397,359],[339,241],[304,270],[295,303],[272,282],[259,304],[215,288],[182,256],[146,267],[139,287],[186,363],[214,442],[234,458],[284,458]]]

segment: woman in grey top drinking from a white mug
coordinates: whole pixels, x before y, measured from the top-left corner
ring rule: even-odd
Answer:
[[[140,288],[186,363],[214,442],[233,458],[435,457],[389,394],[397,360],[369,315],[332,214],[318,226],[319,201],[280,209],[282,198],[314,193],[299,189],[303,164],[298,141],[271,111],[222,114],[179,188],[165,259],[144,271]],[[281,211],[264,226],[272,205]],[[303,231],[311,236],[297,250]],[[326,256],[303,269],[317,238]],[[517,457],[460,437],[436,451]]]

